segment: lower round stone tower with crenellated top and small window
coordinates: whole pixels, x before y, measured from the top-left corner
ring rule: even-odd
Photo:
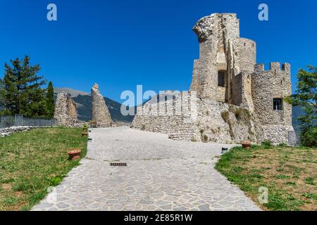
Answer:
[[[256,65],[252,74],[252,98],[254,112],[258,115],[263,128],[263,139],[273,143],[289,143],[292,127],[292,106],[284,98],[291,94],[290,64],[271,63],[270,70],[264,65]],[[273,110],[273,98],[282,98],[282,110]]]

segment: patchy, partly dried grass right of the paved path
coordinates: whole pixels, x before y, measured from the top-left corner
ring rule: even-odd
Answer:
[[[317,210],[317,149],[259,146],[235,148],[216,169],[237,184],[263,210]],[[259,204],[259,187],[268,204]]]

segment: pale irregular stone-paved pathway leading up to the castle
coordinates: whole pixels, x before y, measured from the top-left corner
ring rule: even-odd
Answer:
[[[93,129],[89,136],[81,165],[33,210],[259,210],[213,168],[219,144],[127,127]]]

